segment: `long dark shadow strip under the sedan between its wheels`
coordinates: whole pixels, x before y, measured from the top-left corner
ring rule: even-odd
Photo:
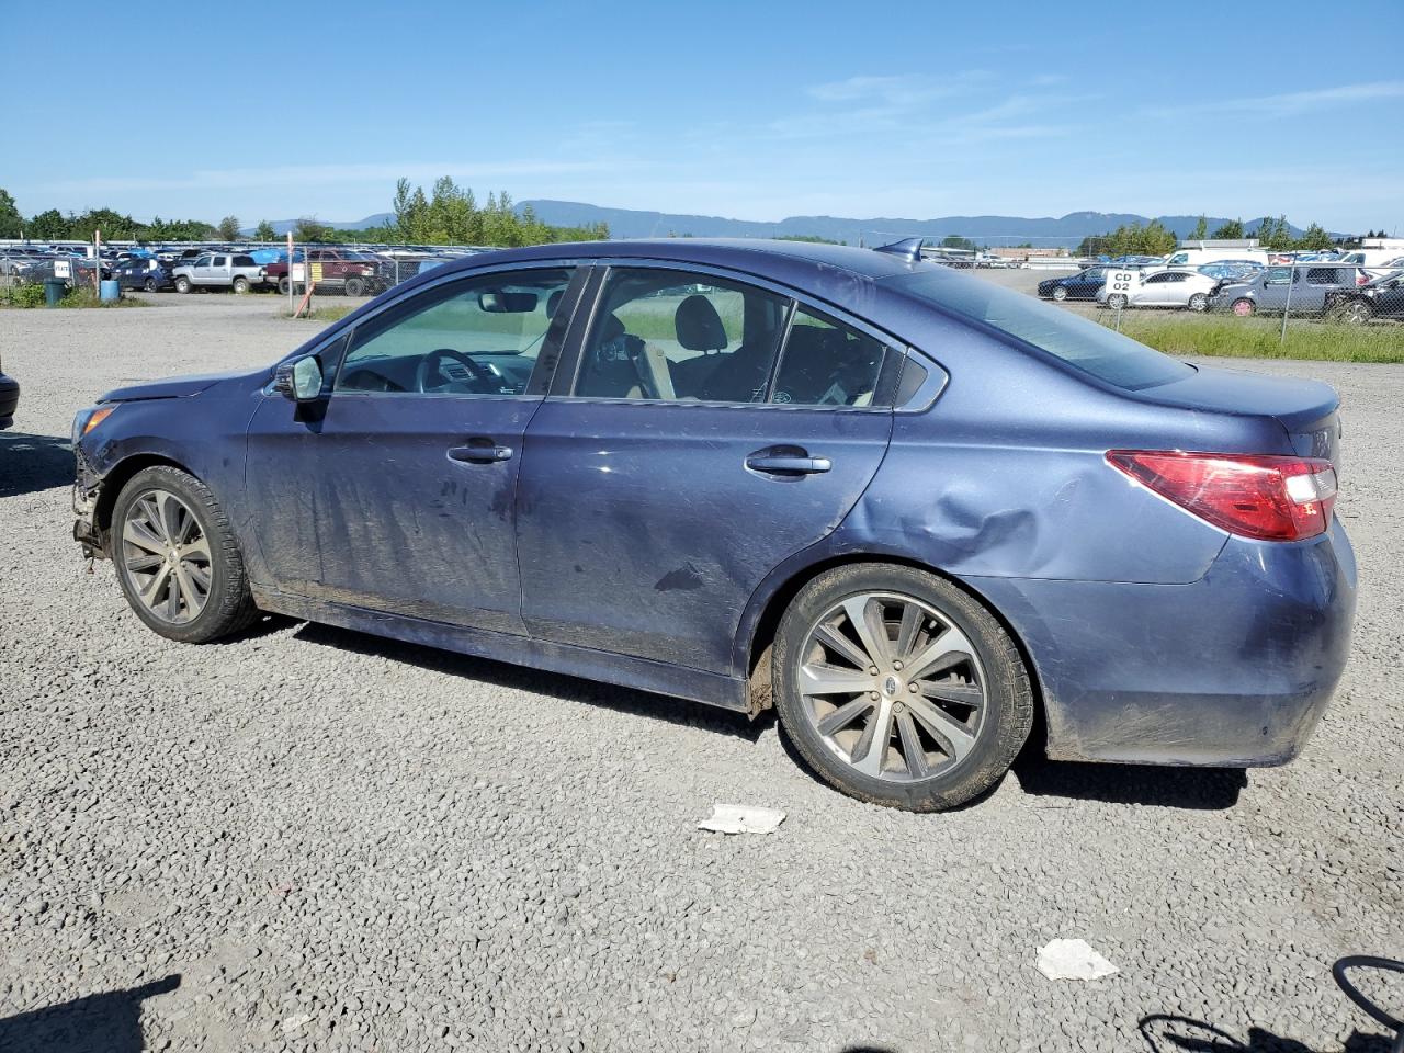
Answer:
[[[448,673],[463,680],[476,680],[498,688],[515,688],[538,695],[550,695],[566,702],[581,702],[590,706],[604,706],[621,713],[646,716],[670,724],[703,727],[709,731],[731,734],[747,741],[757,741],[769,726],[768,720],[747,720],[744,715],[701,702],[689,702],[673,695],[654,695],[647,691],[619,688],[594,680],[567,677],[560,673],[546,673],[525,665],[477,658],[469,654],[404,643],[385,636],[371,636],[330,625],[305,622],[296,639],[320,643],[354,654],[373,654],[390,661],[417,665],[435,673]]]

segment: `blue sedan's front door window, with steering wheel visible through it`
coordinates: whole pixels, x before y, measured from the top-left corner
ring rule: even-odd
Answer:
[[[425,289],[357,326],[336,389],[524,395],[570,277],[498,271]]]

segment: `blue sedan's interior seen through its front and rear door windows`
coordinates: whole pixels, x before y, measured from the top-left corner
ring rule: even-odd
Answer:
[[[338,390],[522,395],[567,271],[448,286],[352,337]],[[618,268],[585,338],[574,395],[656,402],[869,406],[886,347],[788,296]],[[783,348],[782,348],[783,345]],[[776,371],[776,361],[779,369]],[[772,380],[774,376],[774,380]]]

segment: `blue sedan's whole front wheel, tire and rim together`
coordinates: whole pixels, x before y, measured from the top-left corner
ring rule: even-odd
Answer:
[[[156,465],[132,476],[117,496],[108,548],[126,602],[170,640],[208,643],[258,615],[227,517],[209,487],[178,468]]]

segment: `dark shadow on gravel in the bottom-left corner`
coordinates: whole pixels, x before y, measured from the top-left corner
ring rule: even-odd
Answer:
[[[48,1005],[0,1019],[0,1050],[45,1053],[139,1053],[142,1002],[180,987],[171,973],[140,987],[90,994],[60,1005]]]

